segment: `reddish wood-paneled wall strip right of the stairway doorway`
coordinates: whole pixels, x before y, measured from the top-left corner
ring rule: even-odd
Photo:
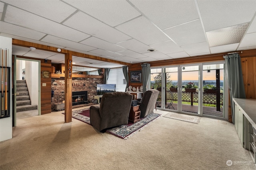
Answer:
[[[47,61],[47,63],[44,62],[44,59],[36,59],[31,57],[22,57],[17,56],[18,58],[23,59],[32,59],[32,60],[38,60],[41,61],[41,115],[46,113],[51,113],[51,93],[52,93],[52,78],[51,78],[51,72],[52,72],[52,63],[50,60]],[[49,71],[49,78],[43,78],[42,71],[46,70]],[[46,83],[46,86],[42,86],[43,83]]]

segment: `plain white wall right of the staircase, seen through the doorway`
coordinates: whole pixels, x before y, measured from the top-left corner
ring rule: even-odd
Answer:
[[[38,105],[38,62],[25,61],[26,82],[32,105]]]

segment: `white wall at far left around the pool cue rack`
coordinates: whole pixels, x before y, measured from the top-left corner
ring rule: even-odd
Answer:
[[[0,36],[0,48],[7,49],[7,66],[12,70],[12,39]],[[12,77],[10,77],[10,84],[12,84]],[[10,117],[0,119],[0,141],[12,139],[12,88],[9,91],[10,108],[8,109],[10,110]]]

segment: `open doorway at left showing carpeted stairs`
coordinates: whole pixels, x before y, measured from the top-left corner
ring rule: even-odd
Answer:
[[[16,126],[17,117],[23,119],[41,114],[41,61],[16,58],[16,56],[14,61],[13,126]]]

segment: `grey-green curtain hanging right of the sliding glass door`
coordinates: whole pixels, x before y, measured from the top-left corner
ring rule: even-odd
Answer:
[[[241,58],[239,54],[223,56],[226,64],[226,76],[230,94],[230,104],[232,111],[232,122],[235,123],[233,98],[246,98],[244,90],[244,80],[242,75]]]

